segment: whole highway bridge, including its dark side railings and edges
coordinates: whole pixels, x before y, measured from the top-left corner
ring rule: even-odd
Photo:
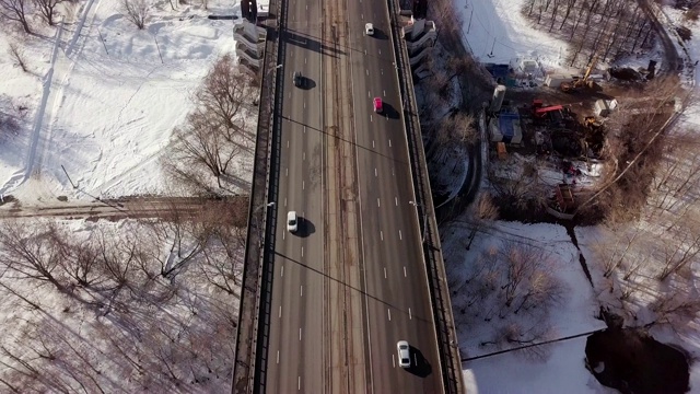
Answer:
[[[397,11],[270,4],[235,393],[463,390]]]

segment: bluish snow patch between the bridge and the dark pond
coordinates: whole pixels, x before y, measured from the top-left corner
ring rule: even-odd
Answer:
[[[448,275],[454,277],[456,274],[462,276],[460,280],[465,280],[474,269],[480,253],[490,248],[499,250],[503,240],[512,240],[540,248],[549,255],[549,269],[562,287],[564,297],[547,313],[522,312],[505,317],[499,317],[497,314],[491,318],[483,313],[478,316],[470,315],[470,309],[466,306],[468,300],[453,293],[453,310],[459,327],[457,335],[463,358],[478,358],[525,345],[499,343],[502,327],[512,324],[517,324],[527,333],[523,340],[527,340],[529,334],[541,329],[541,338],[537,341],[556,340],[605,328],[605,324],[594,317],[597,312],[594,291],[579,264],[579,252],[563,227],[497,222],[481,229],[481,234],[477,235],[467,251],[465,240],[469,229],[469,225],[456,224],[443,234]],[[454,263],[455,260],[462,263]],[[454,264],[460,264],[463,273],[455,273]],[[477,302],[478,310],[490,309],[494,305],[493,302],[493,299],[487,297],[483,301]],[[466,314],[463,313],[463,308],[466,308]],[[467,361],[463,367],[468,392],[606,393],[607,389],[585,369],[584,347],[585,336],[546,345],[535,355],[528,350],[518,350]]]

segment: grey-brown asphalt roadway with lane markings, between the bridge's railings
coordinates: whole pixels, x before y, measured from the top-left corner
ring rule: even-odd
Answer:
[[[266,392],[440,393],[387,4],[287,7]],[[411,345],[408,369],[398,340]]]

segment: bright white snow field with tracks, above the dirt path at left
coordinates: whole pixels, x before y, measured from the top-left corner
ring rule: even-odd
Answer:
[[[163,193],[159,158],[167,153],[173,129],[190,112],[191,95],[214,60],[235,56],[232,21],[206,16],[233,14],[240,5],[209,4],[172,11],[161,2],[138,31],[117,1],[81,1],[62,31],[45,28],[48,37],[31,39],[31,73],[0,60],[9,71],[0,96],[28,107],[21,138],[0,155],[0,193],[44,204],[58,196]],[[3,56],[9,40],[0,35]],[[248,154],[235,166],[236,175],[250,176]]]

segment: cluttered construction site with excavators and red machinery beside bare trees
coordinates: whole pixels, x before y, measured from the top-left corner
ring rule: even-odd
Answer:
[[[654,78],[653,60],[645,69],[604,71],[596,69],[593,55],[580,73],[539,78],[533,77],[535,70],[527,60],[486,66],[498,83],[491,101],[485,103],[482,124],[489,141],[490,182],[500,197],[511,200],[513,211],[537,208],[540,215],[572,219],[604,178],[609,118],[620,105],[661,106],[662,119],[679,112],[679,102],[658,105],[633,97],[634,84]],[[626,79],[629,76],[633,78]],[[501,207],[511,202],[501,201]]]

